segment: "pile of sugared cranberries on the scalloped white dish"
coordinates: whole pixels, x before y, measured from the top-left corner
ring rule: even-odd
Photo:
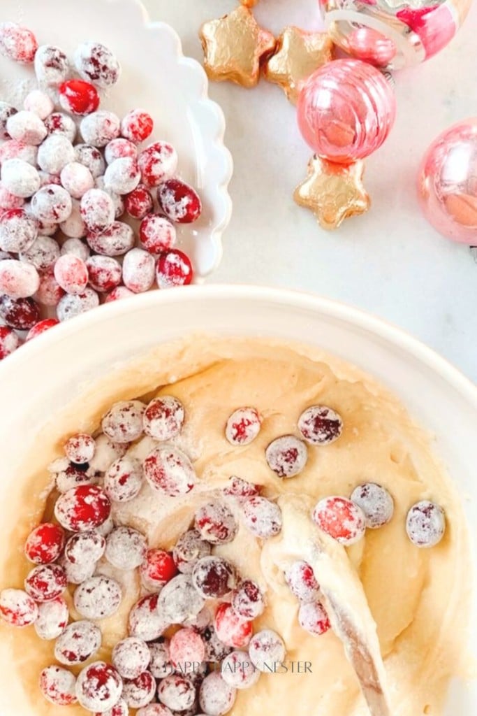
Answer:
[[[70,62],[28,29],[0,24],[0,52],[33,64],[39,89],[0,102],[0,359],[100,303],[192,281],[176,225],[199,195],[177,178],[177,153],[142,109],[99,108],[119,62],[99,42]]]

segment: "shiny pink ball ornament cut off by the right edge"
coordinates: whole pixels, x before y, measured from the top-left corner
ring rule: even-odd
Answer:
[[[418,172],[418,199],[429,223],[447,238],[477,244],[477,117],[432,142]]]

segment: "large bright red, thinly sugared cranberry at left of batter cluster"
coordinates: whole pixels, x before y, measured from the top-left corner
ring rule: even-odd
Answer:
[[[70,532],[87,532],[102,525],[109,517],[111,503],[97,485],[79,485],[60,495],[54,514],[60,525]]]

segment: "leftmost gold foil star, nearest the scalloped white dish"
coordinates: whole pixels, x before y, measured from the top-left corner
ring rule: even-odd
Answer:
[[[275,49],[275,37],[262,29],[243,5],[203,24],[200,39],[210,79],[230,79],[243,87],[255,87],[260,78],[260,61]]]

